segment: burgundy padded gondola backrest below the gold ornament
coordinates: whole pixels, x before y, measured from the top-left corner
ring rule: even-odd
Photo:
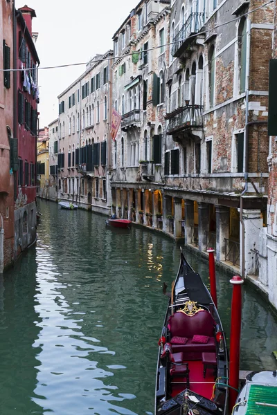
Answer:
[[[215,321],[212,315],[204,310],[189,316],[184,313],[175,313],[170,317],[169,329],[172,336],[193,338],[197,335],[213,336]]]

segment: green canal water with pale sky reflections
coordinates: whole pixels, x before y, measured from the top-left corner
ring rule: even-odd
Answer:
[[[39,201],[36,246],[0,279],[0,413],[152,414],[160,337],[179,248],[161,234]],[[208,264],[186,253],[208,284]],[[230,275],[217,272],[227,337]],[[277,324],[243,288],[241,369],[271,369]]]

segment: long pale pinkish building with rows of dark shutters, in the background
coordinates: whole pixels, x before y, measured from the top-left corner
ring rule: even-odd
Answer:
[[[108,213],[112,50],[96,55],[59,99],[58,197]]]

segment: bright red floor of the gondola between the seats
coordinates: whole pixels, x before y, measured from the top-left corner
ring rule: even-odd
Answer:
[[[190,369],[190,390],[205,398],[211,399],[211,396],[213,395],[213,385],[215,385],[213,369],[208,369],[206,371],[206,377],[204,378],[202,360],[188,360],[188,367]],[[186,379],[182,379],[180,376],[178,376],[178,378],[174,377],[171,385],[173,398],[186,389]]]

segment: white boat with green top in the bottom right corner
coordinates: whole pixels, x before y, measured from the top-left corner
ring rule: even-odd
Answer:
[[[232,414],[277,414],[277,371],[251,372],[238,394]]]

